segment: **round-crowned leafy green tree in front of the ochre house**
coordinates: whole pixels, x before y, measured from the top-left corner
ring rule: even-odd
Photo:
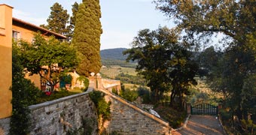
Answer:
[[[45,40],[40,34],[35,34],[35,42],[30,44],[21,40],[20,49],[27,72],[39,74],[52,90],[59,83],[62,71],[75,68],[78,63],[75,49],[54,37]]]

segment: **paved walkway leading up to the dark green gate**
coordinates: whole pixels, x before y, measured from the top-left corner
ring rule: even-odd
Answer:
[[[187,127],[172,132],[174,135],[222,135],[224,130],[212,115],[191,115]]]

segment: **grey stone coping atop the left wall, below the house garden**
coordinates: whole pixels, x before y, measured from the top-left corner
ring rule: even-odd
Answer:
[[[81,97],[83,95],[87,95],[90,92],[92,92],[92,90],[93,90],[93,88],[88,88],[87,92],[78,93],[76,95],[70,95],[70,96],[59,98],[59,99],[56,99],[56,100],[53,100],[53,101],[46,101],[46,102],[41,103],[41,104],[34,104],[34,105],[29,106],[29,109],[30,110],[37,110],[38,108],[41,108],[41,107],[47,107],[47,106],[50,106],[52,104],[58,104],[58,103],[63,102],[63,101],[68,101],[69,99],[72,99],[72,98],[77,98],[77,97]]]

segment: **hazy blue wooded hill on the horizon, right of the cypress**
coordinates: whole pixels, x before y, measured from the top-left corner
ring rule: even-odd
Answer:
[[[123,51],[126,48],[114,48],[114,49],[102,49],[100,51],[100,56],[102,59],[117,59],[117,60],[126,60],[127,55],[123,55]]]

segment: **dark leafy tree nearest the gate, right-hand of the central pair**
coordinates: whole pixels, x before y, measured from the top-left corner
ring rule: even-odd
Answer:
[[[186,49],[175,50],[175,58],[172,60],[172,68],[169,71],[172,84],[171,106],[175,96],[178,96],[180,107],[184,107],[184,95],[190,95],[190,86],[197,85],[194,77],[197,74],[198,65],[191,59],[191,55],[192,53]]]

